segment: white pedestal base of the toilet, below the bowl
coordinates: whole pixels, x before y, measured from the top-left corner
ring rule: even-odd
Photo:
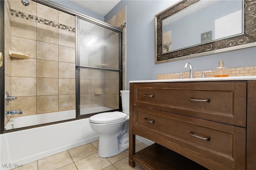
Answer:
[[[108,158],[124,152],[129,147],[129,143],[126,143],[126,141],[129,140],[124,139],[121,144],[119,144],[117,137],[110,139],[109,137],[100,135],[98,156]]]

